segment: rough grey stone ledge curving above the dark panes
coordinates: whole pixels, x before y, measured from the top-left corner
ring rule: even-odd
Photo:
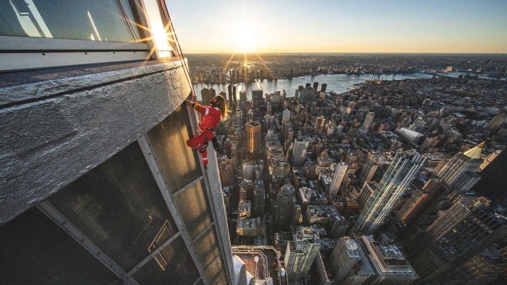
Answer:
[[[132,64],[0,87],[13,104],[0,109],[0,224],[137,140],[190,94],[181,62]]]

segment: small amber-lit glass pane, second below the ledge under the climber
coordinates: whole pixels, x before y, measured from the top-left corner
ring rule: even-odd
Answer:
[[[174,198],[192,239],[212,221],[205,191],[204,182],[201,180]]]

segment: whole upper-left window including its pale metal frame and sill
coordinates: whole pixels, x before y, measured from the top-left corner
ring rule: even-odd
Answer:
[[[145,34],[146,14],[136,2],[4,1],[0,6],[0,71],[151,59],[147,40],[153,44],[153,36]],[[157,5],[152,8],[158,9]],[[155,15],[158,19],[153,22],[162,21],[160,16]],[[168,43],[168,35],[159,37]],[[161,49],[170,56],[172,48],[167,43]]]

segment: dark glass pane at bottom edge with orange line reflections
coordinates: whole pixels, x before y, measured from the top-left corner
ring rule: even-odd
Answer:
[[[132,276],[139,284],[193,284],[199,272],[181,237],[165,247]]]

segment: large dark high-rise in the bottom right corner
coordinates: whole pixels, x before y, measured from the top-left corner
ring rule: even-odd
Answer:
[[[424,236],[422,253],[412,265],[420,276],[417,283],[436,281],[463,262],[507,237],[507,219],[489,208],[482,197],[457,201],[435,221]]]

